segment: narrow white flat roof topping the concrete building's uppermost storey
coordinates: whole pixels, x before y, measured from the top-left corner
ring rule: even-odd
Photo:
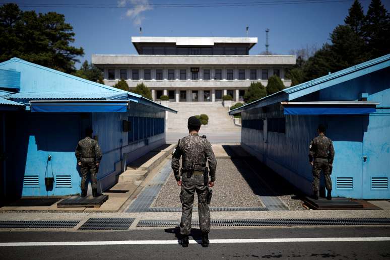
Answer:
[[[223,44],[246,44],[249,49],[257,43],[257,37],[140,37],[133,36],[132,43],[139,52],[142,43],[173,43],[177,46],[214,46]]]

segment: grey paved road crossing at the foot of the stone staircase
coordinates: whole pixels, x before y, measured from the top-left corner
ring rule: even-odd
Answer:
[[[165,139],[167,144],[177,143],[177,140],[187,136],[188,133],[166,133]],[[212,144],[240,144],[241,132],[224,132],[224,133],[208,133],[203,132],[202,128],[199,135],[207,136],[207,140]]]

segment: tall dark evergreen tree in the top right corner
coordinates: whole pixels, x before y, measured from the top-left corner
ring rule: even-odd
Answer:
[[[371,58],[390,53],[390,15],[380,0],[371,0],[364,19],[363,36]]]

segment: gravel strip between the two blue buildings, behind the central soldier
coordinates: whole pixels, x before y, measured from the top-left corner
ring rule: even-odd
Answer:
[[[177,186],[172,172],[153,207],[181,207],[179,193],[180,187]],[[193,206],[198,207],[197,196],[194,198]],[[216,182],[213,187],[213,199],[210,207],[263,206],[234,163],[230,159],[217,159]]]

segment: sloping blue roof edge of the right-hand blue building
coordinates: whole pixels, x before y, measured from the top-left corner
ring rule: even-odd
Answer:
[[[390,67],[390,54],[371,59],[369,61],[357,64],[353,67],[329,74],[327,76],[323,76],[290,88],[283,89],[275,94],[233,109],[229,112],[229,114],[237,114],[246,109],[267,106],[286,100],[293,100],[310,94],[312,92],[318,91],[320,89],[328,88],[341,82],[348,81],[353,78],[357,78],[387,67]]]

